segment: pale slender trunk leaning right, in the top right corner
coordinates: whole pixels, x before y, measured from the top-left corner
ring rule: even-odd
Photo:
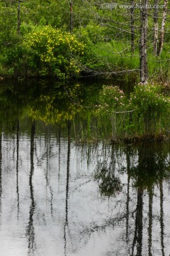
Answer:
[[[160,36],[159,36],[159,49],[158,49],[159,56],[162,54],[162,49],[164,46],[164,28],[165,28],[165,23],[166,23],[167,6],[168,6],[168,0],[164,0],[164,11],[162,14],[162,28],[161,28]]]

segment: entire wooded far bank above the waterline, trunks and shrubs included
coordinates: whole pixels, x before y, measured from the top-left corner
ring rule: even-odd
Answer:
[[[0,7],[1,77],[169,80],[168,0],[1,0]]]

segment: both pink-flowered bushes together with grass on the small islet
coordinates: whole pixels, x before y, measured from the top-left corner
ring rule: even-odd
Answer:
[[[170,98],[162,90],[162,85],[139,84],[128,97],[118,87],[103,87],[94,111],[100,120],[98,124],[109,127],[110,123],[110,136],[114,141],[166,134],[169,131]]]

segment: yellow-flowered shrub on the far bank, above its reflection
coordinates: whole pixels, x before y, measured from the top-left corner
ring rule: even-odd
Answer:
[[[26,35],[25,45],[40,75],[67,78],[79,74],[79,56],[84,53],[84,45],[75,35],[51,26],[35,26]]]

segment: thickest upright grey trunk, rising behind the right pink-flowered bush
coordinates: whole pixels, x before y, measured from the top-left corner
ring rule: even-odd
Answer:
[[[140,82],[147,82],[147,6],[149,0],[140,1]]]

